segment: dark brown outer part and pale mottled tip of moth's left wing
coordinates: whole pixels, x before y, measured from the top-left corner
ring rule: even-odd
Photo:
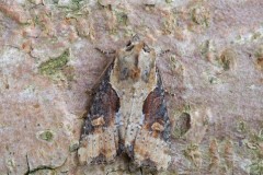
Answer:
[[[118,150],[118,133],[115,115],[119,100],[110,83],[111,65],[102,79],[85,118],[78,156],[80,164],[108,163]]]

